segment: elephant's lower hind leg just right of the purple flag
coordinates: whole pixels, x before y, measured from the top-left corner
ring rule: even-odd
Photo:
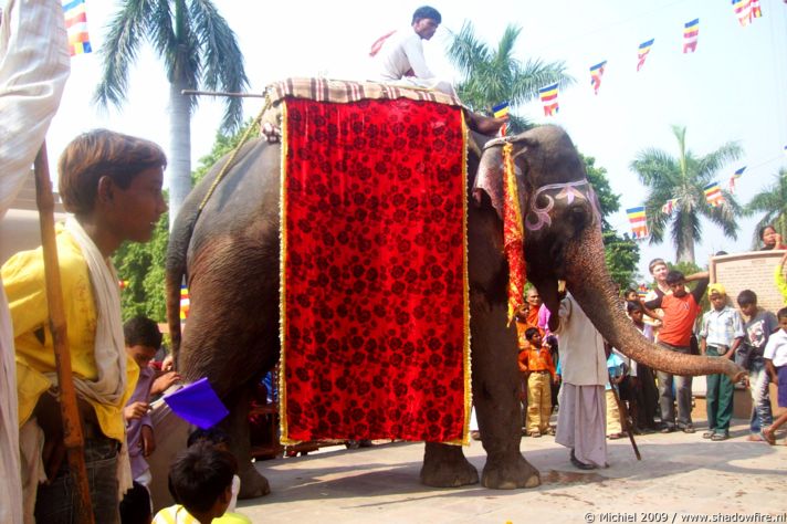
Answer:
[[[251,391],[244,388],[242,392],[228,399],[230,415],[221,427],[230,439],[230,450],[238,459],[238,476],[241,479],[239,499],[254,499],[271,492],[267,479],[260,474],[251,461],[251,434],[249,430],[249,408]]]

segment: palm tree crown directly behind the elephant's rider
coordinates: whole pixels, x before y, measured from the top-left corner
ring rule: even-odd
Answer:
[[[448,56],[459,69],[463,80],[457,86],[459,97],[473,111],[492,114],[501,102],[511,104],[508,129],[518,133],[529,127],[527,122],[513,114],[513,109],[538,97],[538,90],[557,82],[560,87],[575,81],[566,73],[563,62],[528,60],[513,56],[516,39],[522,28],[508,25],[496,50],[490,49],[475,36],[473,25],[465,22],[458,34],[452,34]]]

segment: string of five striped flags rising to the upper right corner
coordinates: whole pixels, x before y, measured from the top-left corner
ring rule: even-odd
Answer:
[[[733,11],[742,27],[752,23],[754,19],[763,17],[763,10],[759,7],[759,0],[732,0]],[[700,19],[696,18],[683,24],[683,53],[693,53],[696,51],[696,44],[700,38]],[[646,59],[653,48],[655,39],[646,40],[637,50],[637,71],[644,66]],[[590,67],[590,85],[594,93],[598,94],[601,86],[601,76],[604,75],[607,61],[599,62]],[[558,84],[550,84],[538,90],[541,102],[544,106],[544,115],[553,116],[559,111]]]

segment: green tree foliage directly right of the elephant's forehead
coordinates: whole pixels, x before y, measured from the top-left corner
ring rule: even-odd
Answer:
[[[601,234],[604,238],[604,251],[612,280],[626,289],[631,285],[637,264],[639,263],[639,247],[637,242],[623,234],[622,237],[609,224],[607,217],[620,209],[620,195],[612,192],[607,178],[607,169],[596,167],[594,157],[583,155],[588,180],[592,184],[594,191],[601,206]]]

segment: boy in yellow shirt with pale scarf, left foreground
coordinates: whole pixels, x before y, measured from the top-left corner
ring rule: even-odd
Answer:
[[[111,256],[127,240],[150,240],[167,210],[166,161],[151,142],[99,129],[76,137],[57,166],[60,195],[73,216],[56,231],[56,249],[91,500],[101,523],[119,522],[119,499],[132,485],[123,408],[139,373],[125,350]],[[41,248],[11,258],[2,281],[13,323],[25,513],[34,511],[38,522],[71,522],[76,495],[64,460]]]

